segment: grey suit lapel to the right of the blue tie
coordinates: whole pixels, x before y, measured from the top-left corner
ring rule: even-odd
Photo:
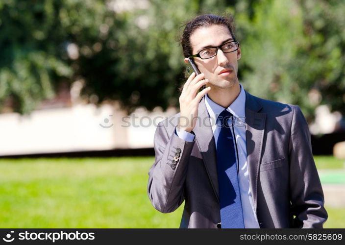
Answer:
[[[260,113],[262,106],[256,98],[246,92],[246,150],[249,183],[254,207],[257,207],[259,167],[265,133],[266,113]]]

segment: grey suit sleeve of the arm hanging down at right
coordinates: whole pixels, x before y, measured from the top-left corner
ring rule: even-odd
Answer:
[[[308,124],[298,106],[293,107],[289,144],[290,188],[294,228],[322,228],[327,220]]]

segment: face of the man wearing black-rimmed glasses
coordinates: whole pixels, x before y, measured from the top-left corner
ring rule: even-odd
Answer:
[[[190,37],[193,54],[209,47],[218,47],[233,41],[226,25],[211,25],[200,27]],[[209,59],[194,58],[194,61],[205,78],[209,79],[208,85],[216,88],[231,88],[238,82],[237,60],[241,58],[241,49],[231,53],[223,53],[218,49],[217,55]],[[188,59],[185,59],[188,62]],[[229,70],[228,72],[224,72]]]

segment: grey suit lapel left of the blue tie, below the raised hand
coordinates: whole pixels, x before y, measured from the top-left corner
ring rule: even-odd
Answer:
[[[197,125],[193,131],[195,133],[196,143],[201,152],[202,160],[204,161],[212,188],[219,201],[216,144],[213,136],[210,117],[205,105],[205,97],[203,97],[199,103]]]

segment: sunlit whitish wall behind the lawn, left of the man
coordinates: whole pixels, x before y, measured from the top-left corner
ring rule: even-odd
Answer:
[[[79,104],[0,114],[0,156],[153,147],[155,123],[174,113],[139,108],[126,116],[110,104]]]

